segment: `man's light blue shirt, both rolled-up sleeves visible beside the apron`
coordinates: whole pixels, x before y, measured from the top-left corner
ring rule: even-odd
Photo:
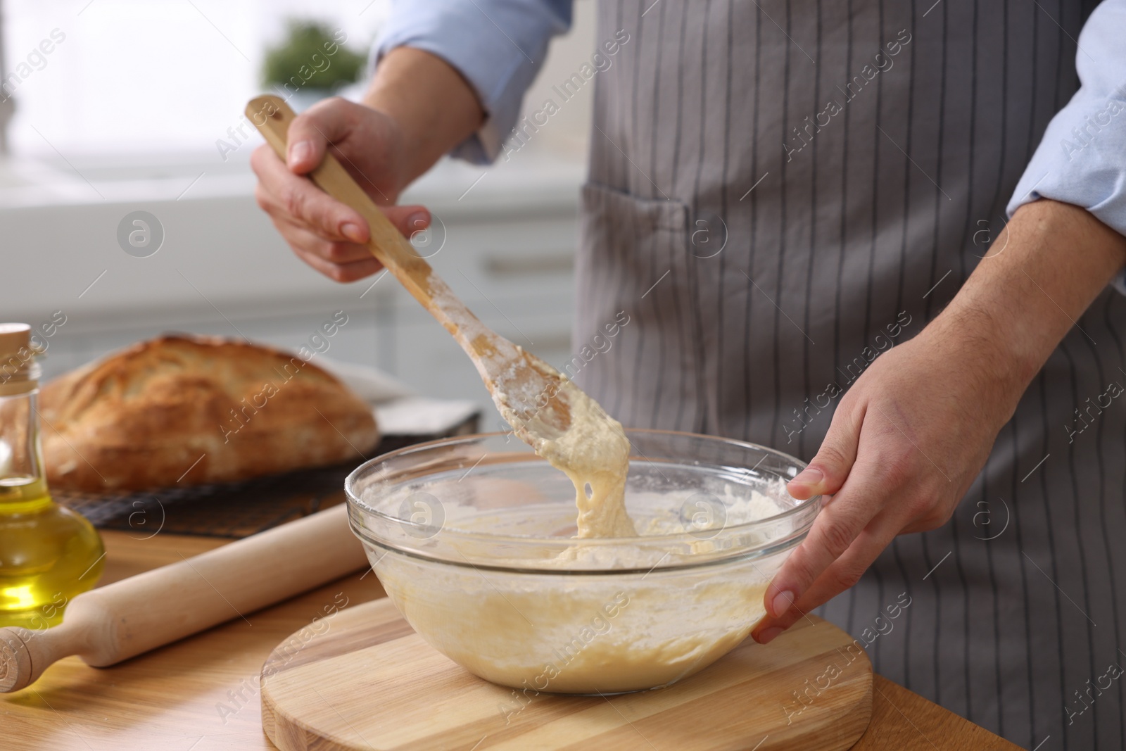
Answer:
[[[406,45],[456,68],[488,113],[453,152],[475,163],[500,153],[547,43],[571,25],[571,0],[395,0],[376,56]],[[1008,214],[1038,198],[1081,206],[1126,235],[1126,0],[1103,0],[1079,35],[1080,89],[1052,119]],[[1115,286],[1126,293],[1126,274]]]

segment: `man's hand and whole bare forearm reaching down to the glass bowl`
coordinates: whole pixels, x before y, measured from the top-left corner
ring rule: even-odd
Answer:
[[[1020,395],[1126,262],[1126,238],[1052,200],[1021,207],[950,305],[844,394],[810,466],[810,535],[767,589],[767,643],[844,591],[900,534],[946,524]]]

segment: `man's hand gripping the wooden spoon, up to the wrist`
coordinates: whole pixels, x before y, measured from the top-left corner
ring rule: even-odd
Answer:
[[[254,195],[297,257],[321,274],[354,281],[383,268],[365,244],[368,226],[359,213],[304,177],[321,163],[325,150],[405,236],[430,225],[425,207],[393,205],[413,176],[408,173],[402,132],[386,114],[328,99],[293,120],[288,144],[286,162],[269,145],[254,150],[250,159],[258,175]]]

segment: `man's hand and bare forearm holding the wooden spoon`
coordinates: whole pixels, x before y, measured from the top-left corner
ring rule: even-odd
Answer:
[[[256,197],[294,252],[337,281],[379,270],[367,222],[306,177],[331,152],[410,238],[430,225],[422,206],[394,206],[400,191],[480,127],[484,111],[472,87],[446,62],[397,47],[379,62],[364,104],[333,98],[289,125],[285,163],[268,145],[250,164]]]

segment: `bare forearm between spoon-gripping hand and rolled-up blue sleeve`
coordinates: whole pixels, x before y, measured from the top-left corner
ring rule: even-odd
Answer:
[[[406,144],[405,187],[484,120],[473,87],[440,57],[395,47],[379,61],[364,104],[390,115]]]

